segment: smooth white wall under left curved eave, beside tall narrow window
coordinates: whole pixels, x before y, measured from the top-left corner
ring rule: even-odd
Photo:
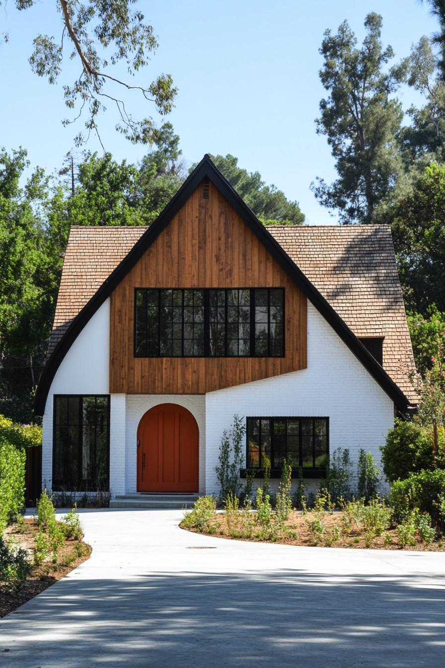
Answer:
[[[42,480],[53,476],[53,395],[107,394],[109,367],[109,299],[85,325],[57,369],[43,415]]]

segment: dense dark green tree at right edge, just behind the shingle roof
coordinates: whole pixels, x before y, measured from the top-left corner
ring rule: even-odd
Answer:
[[[445,311],[445,165],[432,163],[388,210],[405,303]]]

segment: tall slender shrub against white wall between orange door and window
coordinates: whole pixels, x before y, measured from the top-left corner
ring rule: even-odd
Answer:
[[[234,415],[230,430],[224,430],[219,446],[219,466],[215,466],[219,495],[225,499],[229,492],[240,496],[242,484],[240,468],[244,462],[244,436],[246,425],[239,415]]]

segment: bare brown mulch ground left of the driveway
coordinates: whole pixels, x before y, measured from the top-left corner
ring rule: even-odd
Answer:
[[[31,517],[23,518],[23,524],[13,524],[5,531],[5,538],[12,538],[17,546],[26,548],[29,551],[29,556],[33,558],[33,549],[35,545],[35,538],[39,533],[39,526]],[[81,556],[77,556],[75,545],[80,544],[82,547]],[[71,570],[77,568],[79,564],[86,561],[91,554],[91,546],[87,543],[77,540],[67,540],[65,545],[60,548],[57,562],[53,564],[51,556],[48,560],[43,562],[40,566],[33,566],[29,573],[25,584],[15,593],[5,594],[0,592],[0,618],[5,617],[16,608],[33,599],[33,597],[40,594],[47,587],[51,587],[54,582],[61,580]],[[64,560],[73,558],[68,565]]]

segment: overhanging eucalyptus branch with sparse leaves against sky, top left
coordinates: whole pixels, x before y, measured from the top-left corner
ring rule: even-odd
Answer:
[[[76,146],[85,143],[91,130],[101,142],[97,117],[105,112],[111,102],[117,113],[116,130],[133,143],[151,143],[155,126],[149,116],[136,120],[127,110],[124,100],[115,96],[115,88],[137,90],[145,100],[153,102],[159,114],[168,114],[173,106],[177,89],[169,74],[159,75],[146,88],[132,86],[109,73],[108,65],[125,61],[127,71],[135,75],[145,67],[151,53],[157,47],[153,27],[144,22],[141,11],[131,11],[137,0],[56,0],[55,9],[61,15],[61,39],[55,41],[49,35],[37,35],[33,41],[33,53],[29,58],[31,69],[49,83],[56,83],[61,74],[63,58],[76,59],[79,76],[70,85],[63,86],[65,104],[75,111],[73,120],[64,120],[69,125],[87,112],[85,128],[75,138]],[[1,5],[5,0],[0,0]],[[15,0],[20,11],[39,5],[37,0]],[[102,144],[102,142],[101,142]]]

